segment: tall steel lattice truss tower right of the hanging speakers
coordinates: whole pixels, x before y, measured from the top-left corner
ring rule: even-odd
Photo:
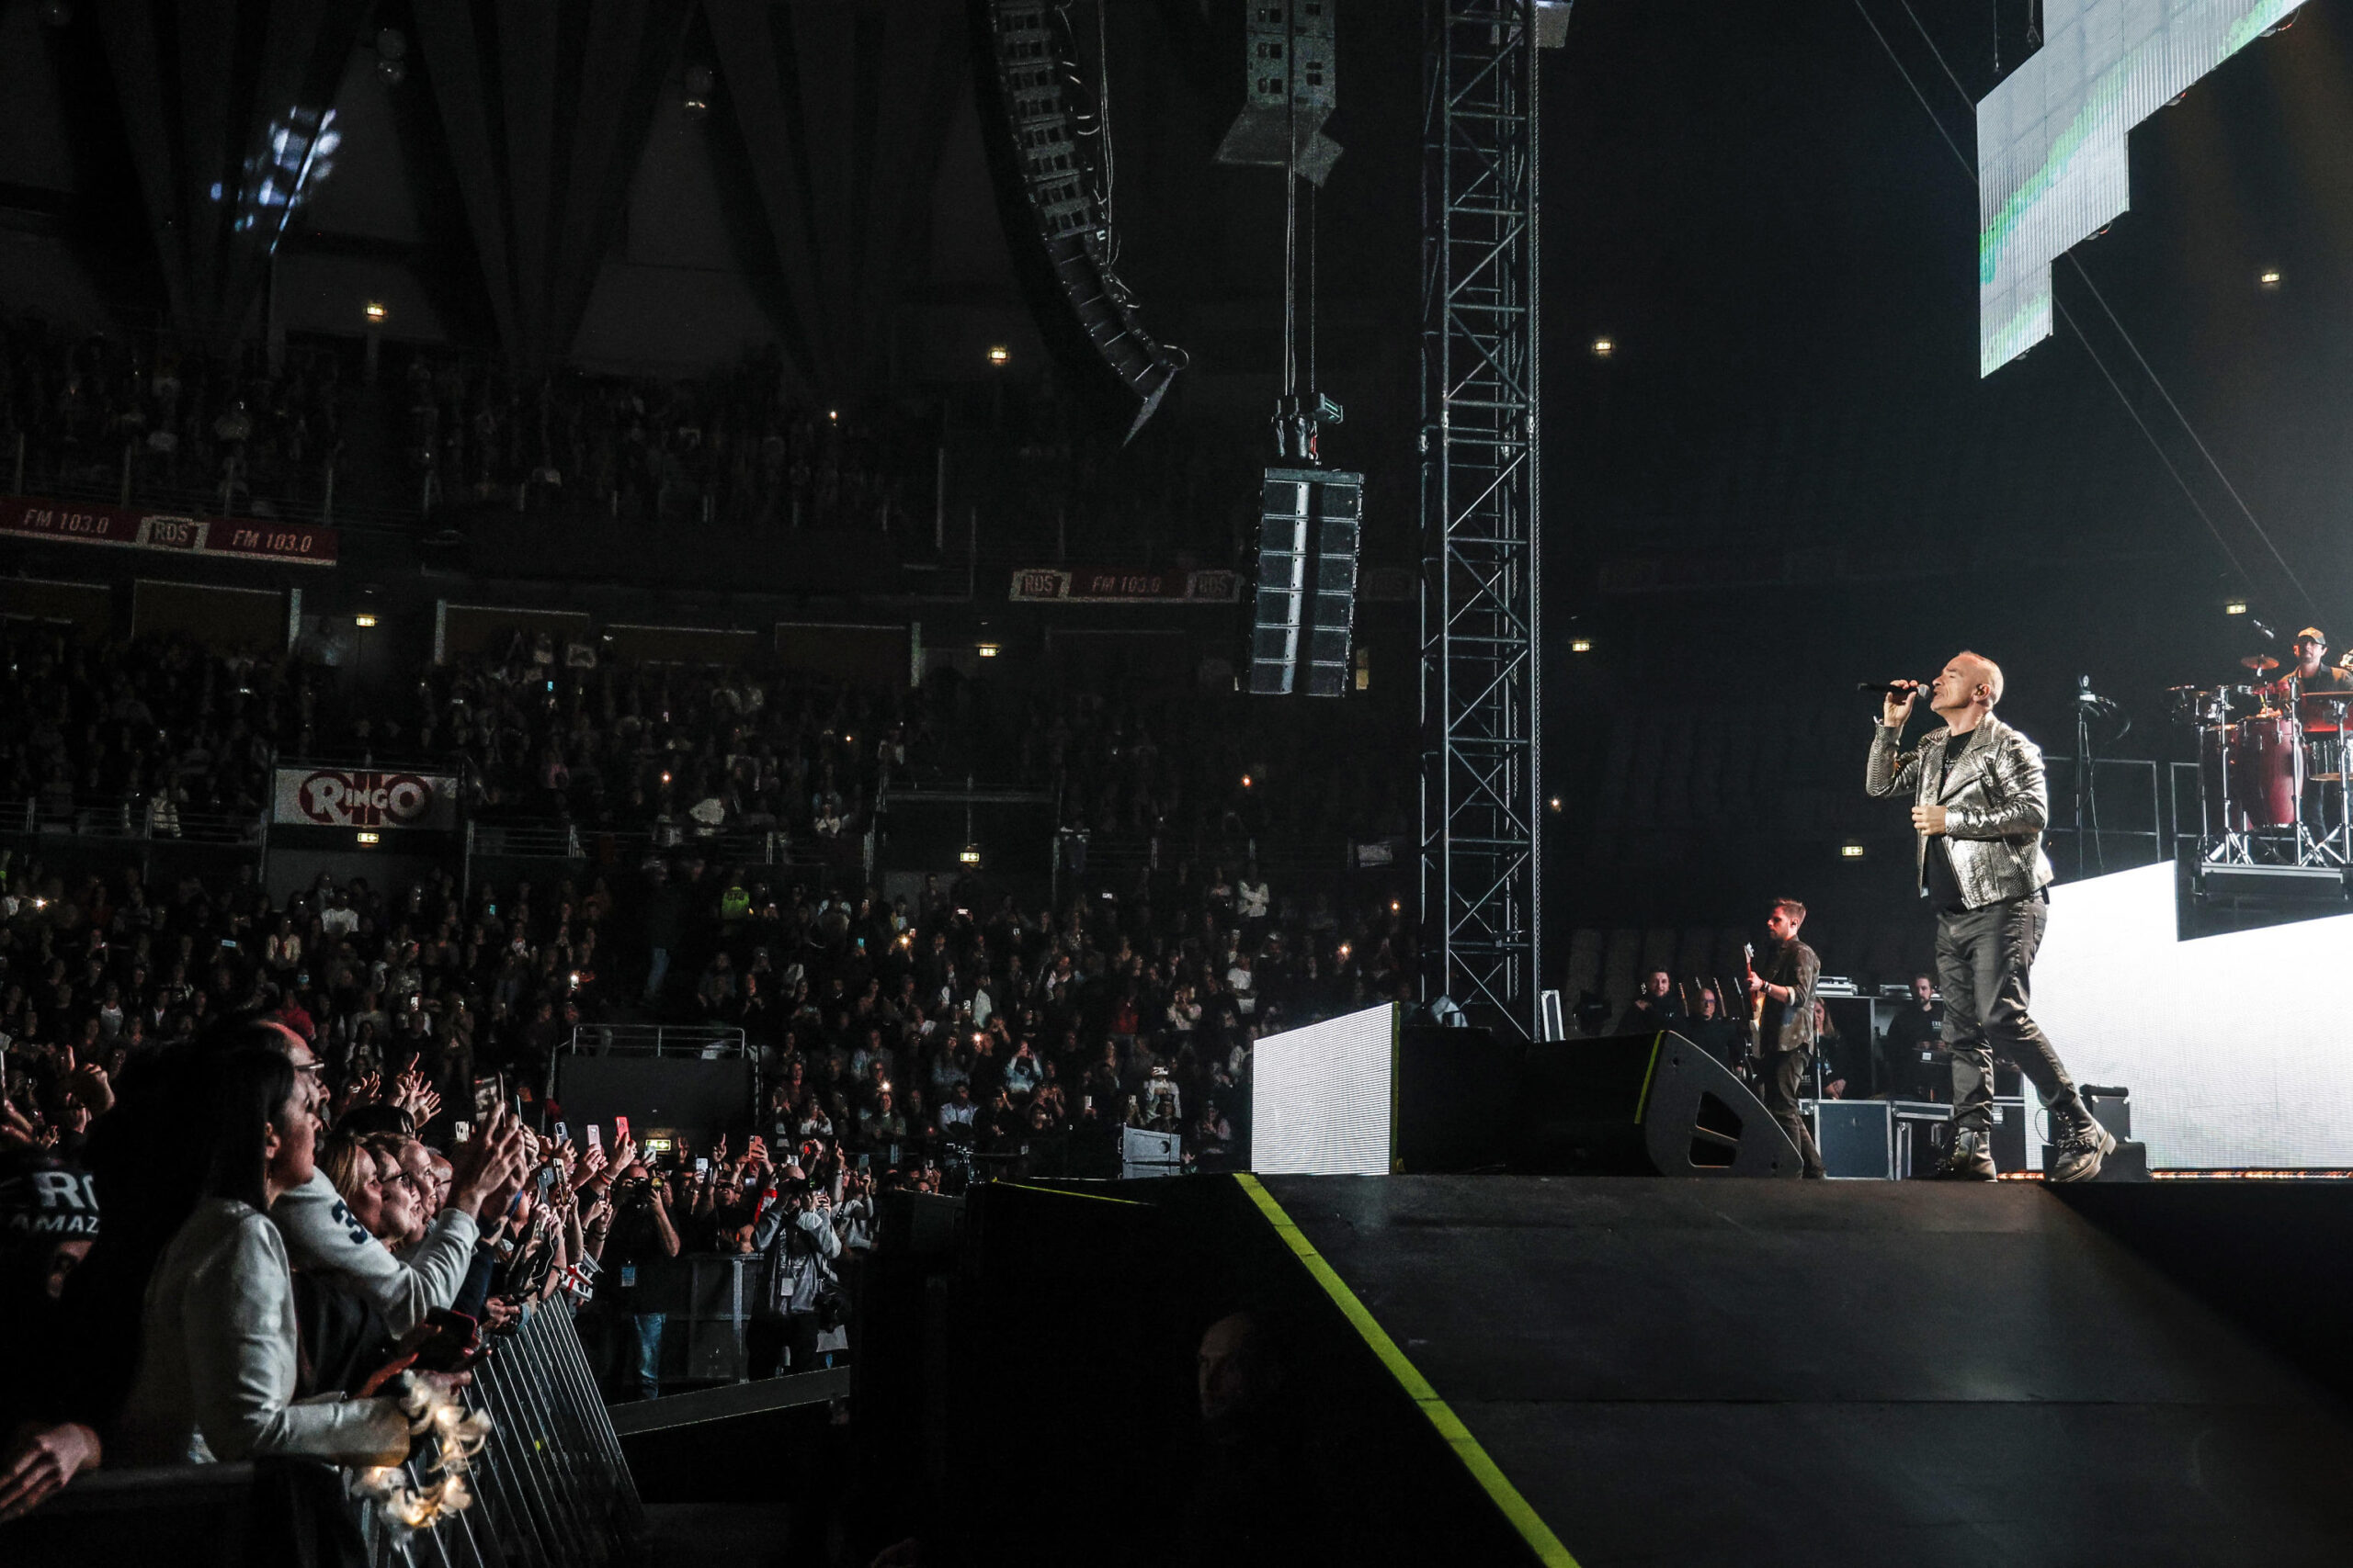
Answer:
[[[1539,1039],[1537,2],[1424,19],[1421,983]]]

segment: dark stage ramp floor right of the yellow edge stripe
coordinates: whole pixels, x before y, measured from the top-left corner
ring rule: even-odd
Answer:
[[[1264,1190],[1586,1568],[2353,1561],[2344,1406],[2038,1182]]]

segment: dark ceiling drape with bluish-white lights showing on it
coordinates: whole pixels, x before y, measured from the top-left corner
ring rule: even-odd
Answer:
[[[106,0],[108,75],[174,324],[247,324],[367,0]],[[315,167],[313,167],[315,172]]]

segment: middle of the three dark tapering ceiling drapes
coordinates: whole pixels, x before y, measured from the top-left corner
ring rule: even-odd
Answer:
[[[499,343],[572,350],[645,153],[687,0],[414,0]]]

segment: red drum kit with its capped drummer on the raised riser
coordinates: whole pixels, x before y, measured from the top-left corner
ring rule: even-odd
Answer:
[[[2238,663],[2242,684],[2172,689],[2174,719],[2198,731],[2200,858],[2353,865],[2353,686],[2266,679],[2280,668],[2266,654]]]

